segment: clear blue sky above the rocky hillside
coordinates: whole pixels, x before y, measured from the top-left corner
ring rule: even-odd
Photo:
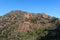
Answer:
[[[60,0],[0,0],[0,16],[11,10],[45,12],[60,18]]]

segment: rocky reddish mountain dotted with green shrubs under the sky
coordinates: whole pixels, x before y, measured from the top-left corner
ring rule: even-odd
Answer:
[[[60,20],[45,13],[15,10],[0,16],[0,40],[60,40]]]

